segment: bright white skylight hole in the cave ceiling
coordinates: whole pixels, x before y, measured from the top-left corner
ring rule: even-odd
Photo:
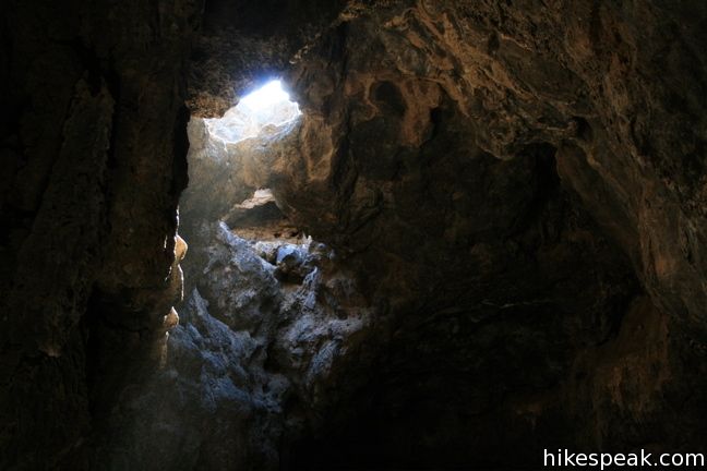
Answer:
[[[301,111],[279,80],[267,82],[244,96],[223,118],[206,119],[209,134],[226,143],[257,137],[266,126],[283,126],[295,121]]]

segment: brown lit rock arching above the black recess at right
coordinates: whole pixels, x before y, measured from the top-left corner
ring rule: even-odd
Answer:
[[[631,256],[646,289],[702,325],[704,68],[690,41],[704,11],[683,10],[398,2],[343,23],[292,78],[308,111],[305,141],[319,147],[291,160],[291,205],[317,201],[311,207],[337,215],[320,217],[319,232],[358,228],[391,198],[379,190],[376,203],[375,189],[404,180],[405,153],[429,144],[446,111],[466,126],[459,141],[500,159],[532,144],[556,147],[565,185]],[[680,32],[676,15],[692,19]],[[341,206],[354,214],[344,221]]]

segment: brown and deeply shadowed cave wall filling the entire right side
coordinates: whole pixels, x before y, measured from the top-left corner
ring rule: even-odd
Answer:
[[[298,142],[262,181],[381,327],[292,466],[704,443],[705,17],[351,3],[305,45]]]

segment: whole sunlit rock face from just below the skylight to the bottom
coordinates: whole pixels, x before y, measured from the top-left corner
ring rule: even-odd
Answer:
[[[189,124],[180,231],[191,245],[190,293],[168,342],[166,371],[145,388],[147,397],[134,400],[153,425],[133,439],[179,431],[160,439],[178,457],[190,452],[189,437],[184,469],[286,468],[283,444],[322,426],[339,382],[361,382],[341,378],[348,371],[341,363],[378,337],[375,314],[346,265],[292,227],[267,189],[277,184],[273,169],[297,145],[299,119],[237,143],[214,132],[220,125],[200,118]],[[163,390],[180,398],[167,412],[157,406]],[[115,451],[136,457],[133,464],[144,452],[134,445]]]

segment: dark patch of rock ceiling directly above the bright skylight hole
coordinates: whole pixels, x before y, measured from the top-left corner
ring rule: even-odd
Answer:
[[[208,1],[190,69],[192,116],[221,117],[244,92],[283,74],[346,5],[346,0]]]

